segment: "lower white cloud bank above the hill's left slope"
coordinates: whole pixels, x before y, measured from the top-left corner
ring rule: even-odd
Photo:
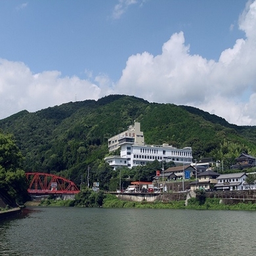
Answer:
[[[79,77],[60,72],[33,74],[24,63],[0,59],[0,118],[75,100],[98,99],[100,88]]]

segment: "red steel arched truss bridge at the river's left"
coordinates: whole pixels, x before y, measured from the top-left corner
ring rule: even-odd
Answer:
[[[26,173],[30,182],[30,194],[77,194],[79,189],[73,181],[48,173]]]

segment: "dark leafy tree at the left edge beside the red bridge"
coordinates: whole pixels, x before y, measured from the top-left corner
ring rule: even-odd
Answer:
[[[27,197],[28,184],[21,169],[22,154],[11,135],[0,133],[0,193],[7,203],[22,203]]]

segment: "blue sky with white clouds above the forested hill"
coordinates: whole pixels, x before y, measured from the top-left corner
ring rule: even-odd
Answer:
[[[256,125],[256,0],[0,0],[0,119],[112,94]]]

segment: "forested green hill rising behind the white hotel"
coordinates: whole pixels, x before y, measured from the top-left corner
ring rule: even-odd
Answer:
[[[135,120],[146,144],[191,146],[197,160],[231,161],[241,152],[256,155],[256,127],[231,125],[197,108],[125,95],[69,102],[35,113],[24,110],[0,120],[0,129],[14,135],[25,157],[25,171],[65,171],[73,176],[88,165],[103,166],[108,138]]]

